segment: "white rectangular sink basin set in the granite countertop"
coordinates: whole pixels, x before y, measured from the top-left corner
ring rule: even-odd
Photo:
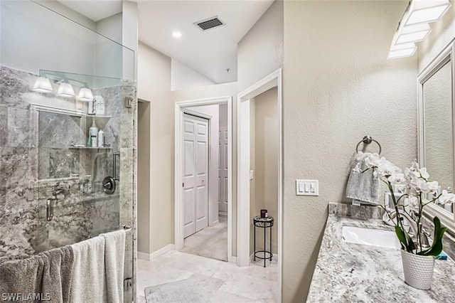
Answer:
[[[401,247],[400,241],[393,231],[356,226],[343,226],[343,241],[380,248],[399,249]]]

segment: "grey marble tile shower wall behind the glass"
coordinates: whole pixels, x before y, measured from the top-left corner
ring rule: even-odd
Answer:
[[[123,104],[118,98],[134,95],[134,85],[94,91],[105,98],[106,115],[112,116],[97,121],[111,149],[70,149],[85,144],[90,125],[82,129],[80,117],[35,110],[33,105],[75,110],[74,100],[33,92],[35,80],[36,75],[0,67],[0,262],[77,243],[133,218],[134,199],[121,205],[122,194],[105,194],[101,181],[113,174],[112,151],[125,153],[122,144],[128,142],[121,142]],[[128,160],[125,165],[131,166],[133,157]],[[50,221],[48,198],[55,198]],[[122,215],[121,208],[129,214]]]

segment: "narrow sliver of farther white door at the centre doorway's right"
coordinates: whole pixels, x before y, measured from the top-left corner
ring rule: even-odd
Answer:
[[[218,210],[228,211],[228,125],[220,126],[218,139]]]

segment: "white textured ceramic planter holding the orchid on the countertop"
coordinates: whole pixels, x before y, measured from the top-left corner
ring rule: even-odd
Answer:
[[[417,289],[432,288],[434,257],[414,255],[401,250],[405,282]]]

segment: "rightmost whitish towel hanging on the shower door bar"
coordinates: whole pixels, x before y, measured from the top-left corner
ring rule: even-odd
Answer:
[[[105,238],[105,271],[107,302],[123,303],[123,268],[125,256],[125,231],[103,233]]]

